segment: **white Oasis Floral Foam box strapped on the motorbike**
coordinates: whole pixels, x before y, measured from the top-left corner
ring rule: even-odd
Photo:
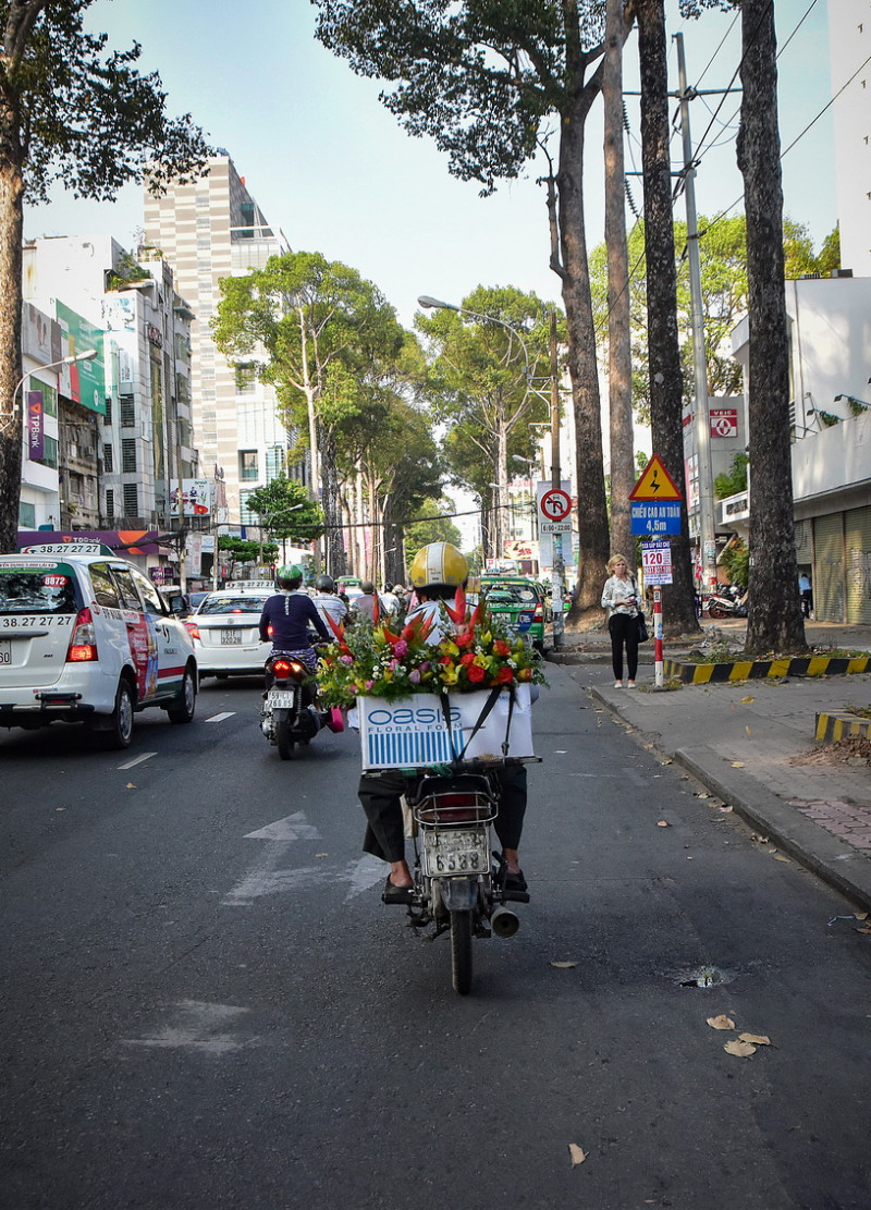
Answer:
[[[514,709],[508,734],[508,756],[532,756],[532,705],[529,685],[514,691]],[[474,726],[490,697],[489,690],[450,693],[450,731],[434,693],[414,693],[397,702],[359,697],[359,732],[363,768],[409,768],[450,761],[466,747],[466,757],[502,757],[508,732],[509,695],[500,693],[474,738]]]

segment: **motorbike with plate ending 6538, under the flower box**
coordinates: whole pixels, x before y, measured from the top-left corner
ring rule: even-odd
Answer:
[[[415,851],[408,914],[413,928],[432,926],[433,940],[450,934],[451,983],[465,996],[472,987],[473,939],[513,937],[520,920],[506,904],[530,897],[504,887],[504,864],[491,847],[500,801],[494,762],[455,761],[448,776],[417,774],[405,793]]]

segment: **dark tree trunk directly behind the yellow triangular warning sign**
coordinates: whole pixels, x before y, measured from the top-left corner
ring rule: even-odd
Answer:
[[[664,0],[639,0],[641,71],[641,156],[644,167],[645,255],[647,259],[647,345],[653,450],[676,484],[683,483],[683,375],[677,341],[671,161],[669,157],[668,67]],[[628,552],[627,552],[628,553]],[[673,580],[663,589],[663,628],[669,635],[697,632],[696,587],[686,499],[681,532],[671,538]]]

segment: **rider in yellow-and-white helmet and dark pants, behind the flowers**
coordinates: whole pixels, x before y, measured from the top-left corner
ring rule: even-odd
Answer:
[[[457,588],[466,584],[468,563],[450,542],[431,542],[421,547],[411,563],[411,583],[419,604],[409,611],[406,623],[422,617],[432,622],[427,643],[436,645],[445,634],[445,618],[440,601],[454,605]],[[526,767],[506,765],[497,771],[500,782],[498,816],[494,823],[502,845],[502,876],[508,891],[526,891],[526,880],[518,864],[518,847],[526,812]],[[390,864],[382,892],[387,904],[408,903],[414,886],[405,860],[405,836],[400,797],[408,789],[408,778],[398,770],[364,773],[357,790],[368,826],[363,851]]]

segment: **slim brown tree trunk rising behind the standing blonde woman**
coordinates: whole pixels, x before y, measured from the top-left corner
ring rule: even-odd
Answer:
[[[635,485],[629,334],[629,249],[623,165],[623,0],[607,2],[605,68],[605,244],[608,270],[608,403],[611,416],[611,549],[635,549],[629,492]]]

